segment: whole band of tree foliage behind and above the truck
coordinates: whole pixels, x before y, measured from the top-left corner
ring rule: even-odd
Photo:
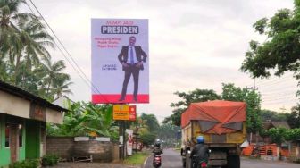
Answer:
[[[262,121],[260,120],[260,104],[261,97],[255,90],[248,88],[238,88],[234,84],[222,84],[221,96],[216,94],[214,90],[196,89],[189,93],[176,92],[182,100],[177,103],[172,103],[171,107],[175,107],[173,114],[167,117],[163,123],[171,122],[180,126],[181,113],[183,113],[187,106],[193,102],[204,102],[208,100],[223,99],[229,101],[243,101],[246,102],[246,125],[249,132],[256,133],[262,128]]]

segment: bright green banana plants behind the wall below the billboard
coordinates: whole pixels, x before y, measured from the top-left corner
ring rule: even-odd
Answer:
[[[63,124],[47,126],[47,134],[53,136],[107,136],[117,139],[118,128],[112,120],[112,106],[77,102],[70,105]]]

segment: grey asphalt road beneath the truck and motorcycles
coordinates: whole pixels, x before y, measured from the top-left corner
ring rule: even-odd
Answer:
[[[153,168],[152,160],[153,155],[148,157],[144,168]],[[182,168],[179,152],[173,149],[164,149],[162,154],[162,168]],[[242,158],[241,168],[300,168],[300,164]]]

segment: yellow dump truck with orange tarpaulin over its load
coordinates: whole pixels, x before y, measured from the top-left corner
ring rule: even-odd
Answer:
[[[246,139],[245,102],[192,103],[181,115],[181,128],[184,167],[190,167],[189,151],[196,145],[196,137],[202,135],[210,149],[210,166],[240,168],[240,145]]]

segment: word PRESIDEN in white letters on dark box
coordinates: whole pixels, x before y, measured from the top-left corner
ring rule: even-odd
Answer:
[[[102,34],[138,34],[138,26],[101,26]]]

